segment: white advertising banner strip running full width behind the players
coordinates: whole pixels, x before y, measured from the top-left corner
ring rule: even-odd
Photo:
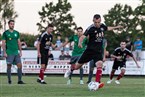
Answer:
[[[46,74],[64,74],[66,70],[70,69],[69,60],[50,60],[48,62],[45,73]],[[138,61],[141,68],[137,68],[134,61],[126,62],[126,73],[125,75],[145,75],[145,60]],[[103,74],[110,74],[112,70],[113,61],[104,62]],[[22,58],[22,70],[23,73],[39,73],[40,65],[37,64],[36,58]],[[0,73],[6,73],[6,61],[0,60]],[[89,64],[83,66],[84,74],[89,73]],[[12,73],[17,72],[16,65],[12,66]],[[96,73],[96,68],[94,69],[94,74]],[[118,69],[115,74],[119,74],[120,69]],[[79,70],[75,70],[74,74],[79,74]]]

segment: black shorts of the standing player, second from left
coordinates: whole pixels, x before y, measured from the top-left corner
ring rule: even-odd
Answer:
[[[48,64],[48,53],[41,54],[41,58],[37,57],[37,64],[45,64],[47,66]]]

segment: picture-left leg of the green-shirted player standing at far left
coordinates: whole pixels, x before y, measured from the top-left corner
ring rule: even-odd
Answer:
[[[14,61],[14,56],[13,55],[8,55],[6,57],[6,62],[7,62],[7,77],[8,77],[8,83],[11,84],[12,80],[11,80],[11,67],[12,67],[12,63]]]

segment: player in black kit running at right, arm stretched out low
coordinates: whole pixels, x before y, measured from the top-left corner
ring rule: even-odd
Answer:
[[[121,73],[118,75],[118,77],[115,80],[116,84],[120,84],[119,80],[124,76],[125,74],[125,68],[126,68],[126,57],[130,56],[133,58],[133,60],[135,61],[136,65],[138,68],[140,68],[140,66],[138,65],[135,57],[133,56],[133,54],[131,53],[130,50],[128,50],[126,48],[126,42],[125,41],[121,41],[120,43],[120,47],[116,48],[114,53],[111,55],[112,58],[115,58],[114,60],[114,64],[112,67],[112,71],[110,74],[110,80],[107,81],[108,84],[110,84],[113,80],[113,76],[115,71],[120,67],[121,69]]]

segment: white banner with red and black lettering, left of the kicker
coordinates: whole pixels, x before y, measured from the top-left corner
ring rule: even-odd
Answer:
[[[70,69],[69,60],[50,60],[48,62],[45,73],[49,74],[64,74],[66,70]],[[37,64],[36,59],[23,59],[23,73],[39,73],[40,65]],[[88,73],[88,66],[84,65],[84,74]],[[79,70],[75,70],[74,74],[78,74]]]

